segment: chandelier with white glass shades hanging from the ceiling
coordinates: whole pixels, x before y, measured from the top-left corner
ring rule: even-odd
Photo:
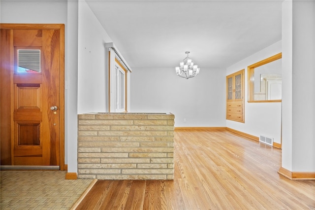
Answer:
[[[198,65],[195,65],[191,59],[189,59],[189,51],[185,52],[187,57],[179,63],[179,67],[176,67],[176,73],[178,76],[189,79],[199,73]]]

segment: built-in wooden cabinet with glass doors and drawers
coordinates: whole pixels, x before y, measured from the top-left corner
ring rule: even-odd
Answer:
[[[245,122],[244,72],[240,70],[226,76],[226,119]]]

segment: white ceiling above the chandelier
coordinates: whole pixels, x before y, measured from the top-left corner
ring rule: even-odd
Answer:
[[[281,40],[283,0],[86,0],[128,65],[226,68]]]

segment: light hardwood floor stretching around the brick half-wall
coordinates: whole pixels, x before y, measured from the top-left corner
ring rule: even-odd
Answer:
[[[175,131],[174,180],[98,180],[77,210],[315,209],[315,181],[279,175],[281,150],[228,131]]]

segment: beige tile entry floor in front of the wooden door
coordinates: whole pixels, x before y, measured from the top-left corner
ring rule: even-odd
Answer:
[[[64,179],[66,171],[1,171],[1,210],[68,210],[93,179]]]

